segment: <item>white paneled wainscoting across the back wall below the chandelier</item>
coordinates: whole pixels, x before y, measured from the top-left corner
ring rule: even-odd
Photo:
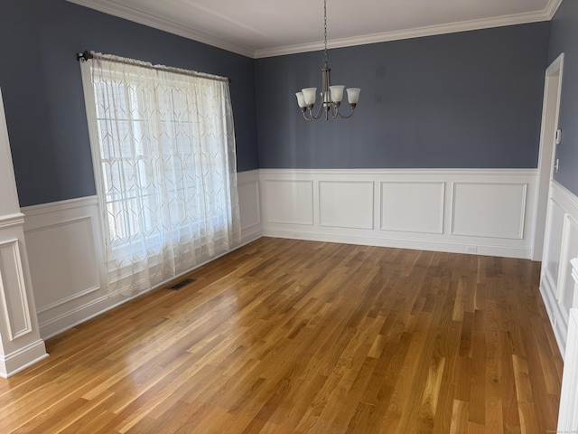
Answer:
[[[535,169],[260,174],[266,236],[531,257]]]

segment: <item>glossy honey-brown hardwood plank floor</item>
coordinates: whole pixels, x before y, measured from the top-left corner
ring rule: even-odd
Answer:
[[[263,238],[47,342],[0,432],[539,433],[539,264]]]

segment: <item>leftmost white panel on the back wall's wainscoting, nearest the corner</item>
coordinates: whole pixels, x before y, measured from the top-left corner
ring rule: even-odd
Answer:
[[[266,180],[266,222],[313,224],[313,182]]]

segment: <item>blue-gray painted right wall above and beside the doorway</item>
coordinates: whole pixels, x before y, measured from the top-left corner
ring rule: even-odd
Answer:
[[[578,1],[564,0],[554,19],[549,61],[564,52],[560,123],[563,142],[557,146],[560,170],[555,180],[578,195]]]

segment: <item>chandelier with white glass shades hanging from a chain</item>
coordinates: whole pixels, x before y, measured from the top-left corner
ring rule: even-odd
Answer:
[[[317,97],[317,88],[305,88],[301,92],[295,93],[297,96],[297,104],[303,112],[303,118],[306,120],[317,120],[322,117],[323,112],[325,113],[325,119],[329,120],[330,114],[331,118],[351,118],[353,116],[353,111],[359,101],[359,88],[349,88],[346,90],[347,99],[350,103],[351,112],[349,115],[344,116],[340,113],[340,104],[343,99],[343,90],[345,86],[334,85],[331,86],[331,68],[327,64],[327,0],[323,0],[323,18],[324,18],[324,42],[325,50],[323,52],[323,68],[322,68],[322,103],[314,113],[313,107],[315,106],[315,100]]]

